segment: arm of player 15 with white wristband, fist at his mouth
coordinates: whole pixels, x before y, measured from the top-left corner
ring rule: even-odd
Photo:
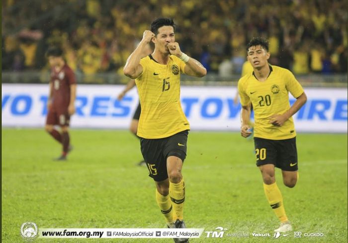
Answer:
[[[185,74],[199,78],[204,77],[207,74],[207,70],[200,62],[181,52],[179,44],[177,42],[169,43],[168,48],[172,55],[177,56],[186,63],[184,70]]]

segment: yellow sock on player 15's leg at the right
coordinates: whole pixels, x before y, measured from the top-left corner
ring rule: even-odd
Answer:
[[[177,184],[169,183],[169,196],[172,200],[174,210],[174,221],[179,219],[183,220],[183,204],[185,201],[185,183],[183,179]]]

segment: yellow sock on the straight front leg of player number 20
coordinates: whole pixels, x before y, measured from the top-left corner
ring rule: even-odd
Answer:
[[[283,197],[281,196],[277,184],[275,182],[271,185],[266,185],[263,183],[263,190],[271,208],[273,209],[273,212],[278,217],[280,222],[283,223],[288,221],[283,206]]]

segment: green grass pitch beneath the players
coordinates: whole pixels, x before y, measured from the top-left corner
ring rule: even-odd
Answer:
[[[155,186],[141,160],[139,141],[128,131],[71,131],[74,150],[67,162],[53,162],[60,145],[43,129],[2,129],[1,242],[25,242],[24,222],[39,228],[163,228]],[[189,228],[228,230],[210,242],[347,242],[347,134],[298,134],[300,177],[296,187],[276,180],[295,231],[279,239],[278,221],[263,194],[254,144],[239,133],[190,132],[183,165],[184,218]],[[249,238],[228,237],[249,233]],[[36,239],[34,242],[154,242],[172,239]]]

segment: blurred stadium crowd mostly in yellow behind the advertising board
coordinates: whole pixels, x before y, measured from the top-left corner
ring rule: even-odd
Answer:
[[[4,0],[2,70],[47,70],[61,45],[84,74],[122,73],[147,23],[173,17],[183,52],[208,72],[240,74],[246,43],[269,40],[269,62],[295,74],[347,73],[346,1],[327,0]]]

